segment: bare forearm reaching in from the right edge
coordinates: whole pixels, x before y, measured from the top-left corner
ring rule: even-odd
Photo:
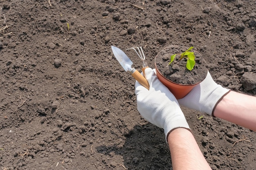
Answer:
[[[231,91],[218,103],[213,115],[256,131],[256,97]]]

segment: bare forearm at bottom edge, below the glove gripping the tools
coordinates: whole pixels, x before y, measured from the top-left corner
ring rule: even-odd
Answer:
[[[189,130],[173,130],[168,136],[168,144],[173,170],[211,170]]]

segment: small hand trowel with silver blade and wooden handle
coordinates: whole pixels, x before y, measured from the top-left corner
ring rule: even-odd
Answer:
[[[114,53],[117,61],[121,64],[125,71],[129,71],[132,77],[134,77],[142,86],[149,90],[148,81],[143,75],[139,73],[135,68],[132,68],[132,61],[121,49],[111,46],[112,52]]]

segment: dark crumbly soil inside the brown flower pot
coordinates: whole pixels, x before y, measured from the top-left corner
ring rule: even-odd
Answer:
[[[170,62],[171,55],[176,53],[183,53],[190,46],[178,46],[171,45],[160,51],[155,58],[155,67],[166,79],[171,80],[174,83],[187,85],[198,84],[207,75],[206,62],[202,55],[195,50],[191,50],[195,54],[195,66],[192,71],[186,68],[186,59],[180,59],[180,55],[176,55],[175,60]]]

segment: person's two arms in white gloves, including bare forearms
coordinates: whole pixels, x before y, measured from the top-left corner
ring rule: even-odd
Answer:
[[[256,97],[223,88],[213,81],[210,73],[179,100],[159,81],[155,69],[146,68],[144,77],[149,86],[135,83],[138,111],[147,121],[164,129],[174,170],[211,169],[179,104],[256,131]]]

